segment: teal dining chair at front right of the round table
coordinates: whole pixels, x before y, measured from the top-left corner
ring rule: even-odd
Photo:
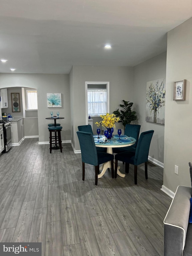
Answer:
[[[115,155],[115,178],[117,177],[118,160],[125,162],[125,173],[129,173],[129,164],[134,164],[134,180],[137,184],[137,166],[145,163],[145,178],[148,179],[147,162],[149,156],[149,147],[151,144],[154,130],[144,131],[140,134],[136,151],[124,151]]]

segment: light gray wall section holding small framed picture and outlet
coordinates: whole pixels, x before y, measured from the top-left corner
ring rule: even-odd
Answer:
[[[164,186],[175,192],[191,186],[192,161],[192,18],[168,32],[165,105]],[[173,101],[174,81],[186,79],[186,100]],[[174,173],[179,166],[179,175]]]

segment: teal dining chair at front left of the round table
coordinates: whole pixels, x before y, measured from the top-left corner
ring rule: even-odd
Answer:
[[[114,155],[96,150],[93,135],[90,132],[77,131],[81,148],[82,180],[85,179],[85,163],[95,166],[95,185],[98,183],[99,165],[111,161],[111,176],[114,178]]]

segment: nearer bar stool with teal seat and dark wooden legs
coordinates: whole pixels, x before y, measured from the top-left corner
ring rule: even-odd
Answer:
[[[62,126],[49,126],[49,143],[50,143],[50,154],[52,151],[52,143],[55,143],[55,149],[59,149],[62,153],[62,146],[61,146],[61,129]],[[52,136],[52,132],[55,133],[54,136]],[[59,144],[59,147],[57,146],[57,143]]]

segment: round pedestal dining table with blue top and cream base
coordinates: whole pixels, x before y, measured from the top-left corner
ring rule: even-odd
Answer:
[[[98,135],[93,135],[93,138],[95,141],[95,146],[107,148],[107,153],[109,153],[109,154],[113,154],[113,148],[128,147],[128,146],[134,145],[136,142],[136,139],[133,137],[129,137],[127,135],[119,136],[118,134],[113,135],[112,138],[110,140],[108,139],[107,141],[106,141],[106,137],[104,135],[99,135],[99,138],[98,138]],[[108,168],[111,168],[110,161],[106,162],[102,165],[102,167],[100,168],[101,173],[98,174],[98,178],[101,178]],[[115,166],[114,166],[114,168],[115,168]],[[121,173],[119,171],[119,169],[120,169],[120,167],[118,166],[117,174],[120,177],[125,178],[125,174]]]

